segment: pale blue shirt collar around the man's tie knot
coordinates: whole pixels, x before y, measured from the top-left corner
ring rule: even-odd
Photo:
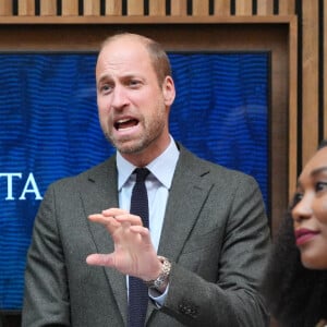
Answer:
[[[179,149],[173,138],[170,136],[170,143],[166,150],[146,166],[156,177],[156,179],[168,190],[171,186],[172,177],[177,161],[179,159]],[[122,155],[117,152],[118,191],[120,191],[121,187],[125,184],[135,168],[136,167],[134,165],[124,159]]]

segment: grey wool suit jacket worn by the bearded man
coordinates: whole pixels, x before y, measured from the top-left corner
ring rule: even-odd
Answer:
[[[146,326],[267,326],[257,288],[269,229],[253,178],[180,146],[158,254],[172,262],[161,308]],[[87,216],[118,207],[116,157],[49,186],[39,207],[25,272],[22,326],[125,326],[125,276],[88,266],[110,253],[107,230]]]

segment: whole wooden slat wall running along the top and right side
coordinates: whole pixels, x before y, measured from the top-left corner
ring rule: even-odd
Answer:
[[[61,8],[57,8],[60,3]],[[51,24],[96,24],[110,23],[110,20],[118,22],[119,19],[124,20],[124,23],[131,19],[135,23],[135,19],[140,17],[148,20],[147,23],[155,23],[158,17],[162,23],[166,16],[167,23],[179,23],[179,20],[183,23],[183,20],[190,17],[199,17],[201,23],[206,20],[213,23],[215,17],[221,21],[231,16],[268,19],[287,15],[293,15],[298,26],[301,26],[299,35],[293,36],[299,40],[299,47],[295,46],[301,62],[293,73],[296,81],[290,82],[293,86],[296,84],[299,95],[294,95],[296,99],[290,100],[290,108],[293,108],[290,109],[288,135],[291,193],[296,174],[315,152],[319,141],[327,137],[327,82],[324,82],[327,81],[327,0],[0,1],[0,24],[24,20],[29,20],[25,22],[31,24],[46,24],[49,20]],[[290,62],[290,65],[294,63]]]

